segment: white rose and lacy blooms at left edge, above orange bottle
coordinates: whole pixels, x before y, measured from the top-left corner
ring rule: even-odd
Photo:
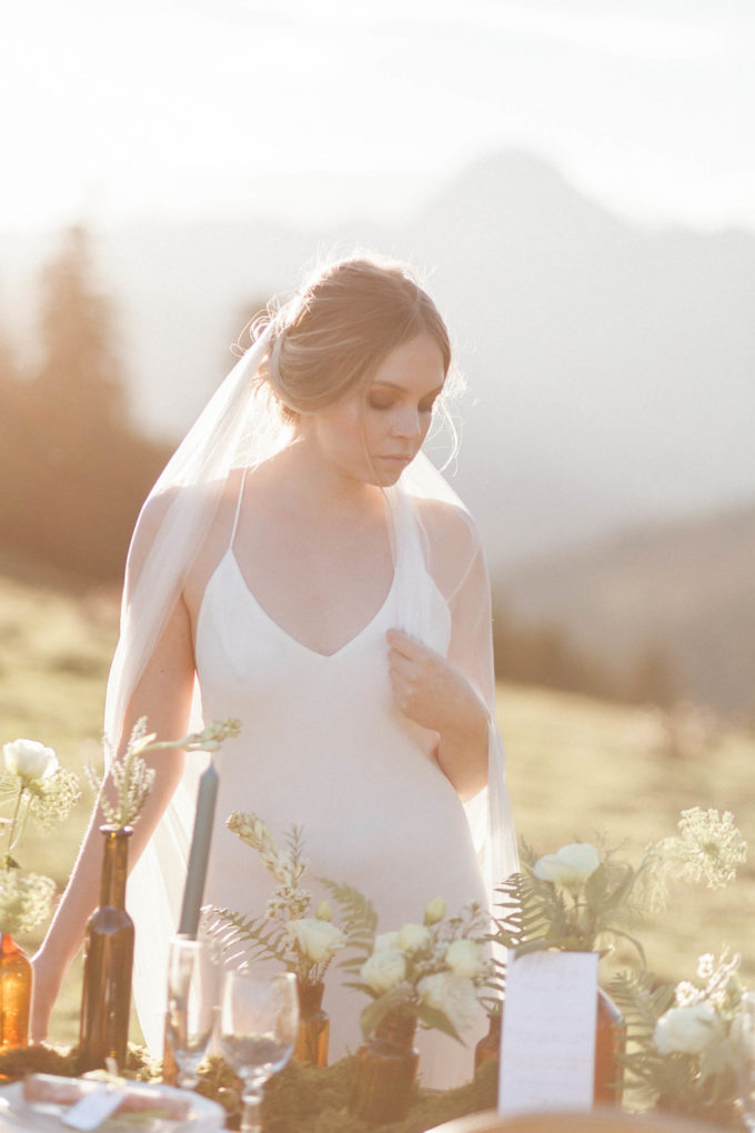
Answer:
[[[52,748],[36,740],[14,740],[2,748],[0,802],[9,803],[6,846],[0,858],[0,932],[29,932],[49,914],[55,883],[42,874],[25,872],[16,851],[32,818],[50,832],[55,820],[68,817],[79,798],[78,780],[62,768]]]

